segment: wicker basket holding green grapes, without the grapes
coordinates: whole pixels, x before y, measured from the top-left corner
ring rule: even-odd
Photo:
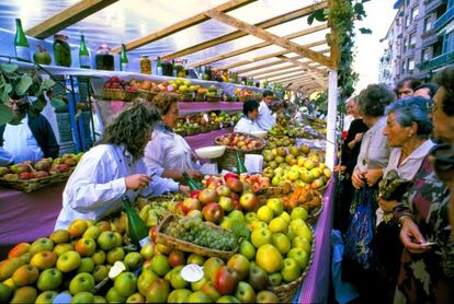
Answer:
[[[193,254],[197,254],[201,256],[208,256],[208,257],[218,257],[222,259],[229,259],[231,256],[234,256],[237,250],[238,250],[238,242],[235,246],[235,248],[231,252],[223,252],[223,250],[217,250],[217,249],[212,249],[212,248],[206,248],[206,247],[202,247],[179,238],[174,238],[172,236],[169,236],[167,234],[164,234],[163,227],[169,224],[171,221],[173,221],[174,219],[178,219],[178,215],[174,214],[170,214],[169,217],[167,217],[160,224],[159,224],[159,229],[158,232],[156,233],[156,243],[157,244],[162,244],[166,245],[170,248],[174,248],[174,249],[179,249],[179,250],[183,250],[186,253],[193,253]],[[206,225],[212,226],[213,229],[216,230],[224,230],[220,226],[217,226],[213,223],[208,223],[208,222],[204,222]]]

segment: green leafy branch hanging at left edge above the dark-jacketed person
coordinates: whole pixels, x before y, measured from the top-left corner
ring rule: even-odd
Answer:
[[[10,98],[34,96],[37,100],[32,105],[36,112],[41,112],[46,105],[45,96],[49,97],[52,106],[65,106],[64,101],[52,93],[55,84],[52,79],[43,80],[36,69],[22,72],[18,65],[0,63],[0,125],[9,122],[13,117],[13,113],[5,105]]]

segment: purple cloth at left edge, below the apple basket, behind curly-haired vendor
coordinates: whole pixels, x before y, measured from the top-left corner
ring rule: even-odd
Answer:
[[[0,188],[0,246],[50,235],[61,210],[65,185],[32,194]]]

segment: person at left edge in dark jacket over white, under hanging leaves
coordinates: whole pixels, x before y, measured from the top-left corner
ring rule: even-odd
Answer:
[[[13,156],[13,163],[36,162],[43,157],[58,157],[59,147],[50,124],[32,105],[19,96],[7,102],[13,118],[0,126],[0,147]]]

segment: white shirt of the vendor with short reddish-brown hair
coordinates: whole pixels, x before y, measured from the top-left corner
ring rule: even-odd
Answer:
[[[155,128],[144,156],[145,164],[158,175],[162,175],[164,169],[189,171],[196,167],[188,142],[162,125]]]

